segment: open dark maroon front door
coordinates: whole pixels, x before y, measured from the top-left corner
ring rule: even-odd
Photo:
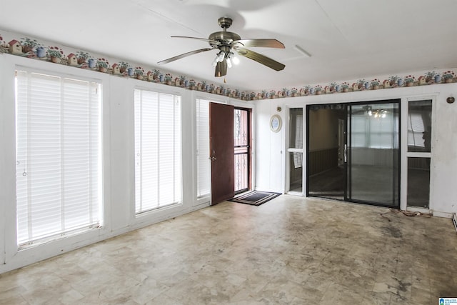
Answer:
[[[225,104],[209,103],[209,156],[211,159],[211,204],[233,198],[233,110]]]

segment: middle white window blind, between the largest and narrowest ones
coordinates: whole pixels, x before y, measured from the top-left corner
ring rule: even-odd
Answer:
[[[135,90],[136,214],[181,203],[181,96]]]

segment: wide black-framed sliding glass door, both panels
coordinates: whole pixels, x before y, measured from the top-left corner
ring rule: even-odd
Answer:
[[[399,206],[399,100],[310,105],[307,196]]]

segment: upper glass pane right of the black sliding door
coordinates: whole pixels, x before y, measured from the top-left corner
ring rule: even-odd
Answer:
[[[408,152],[431,151],[431,100],[408,102]]]

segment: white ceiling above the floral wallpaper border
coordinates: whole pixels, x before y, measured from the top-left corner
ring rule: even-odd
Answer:
[[[195,79],[222,83],[216,51],[156,63],[195,49],[229,16],[242,39],[275,38],[286,49],[253,51],[286,65],[241,58],[226,86],[276,89],[457,67],[456,0],[5,0],[0,29],[56,41]],[[1,34],[1,33],[0,33]],[[304,57],[294,46],[309,54]]]

